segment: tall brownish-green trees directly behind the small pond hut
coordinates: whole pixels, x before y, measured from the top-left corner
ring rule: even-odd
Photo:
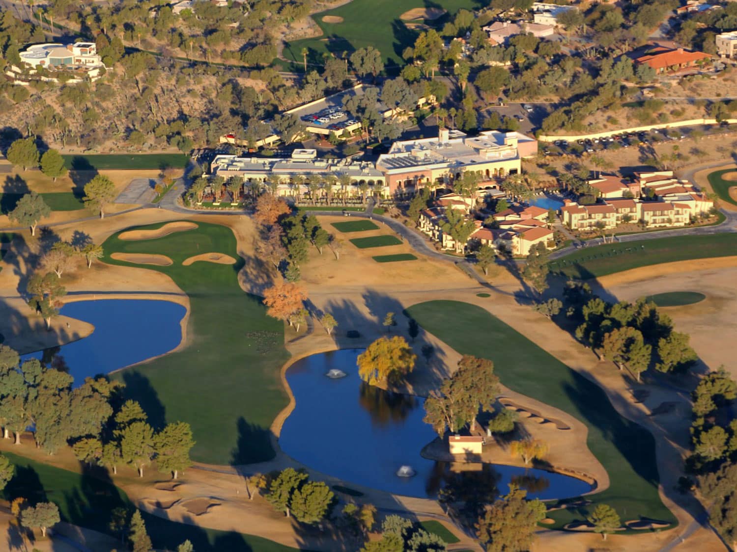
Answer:
[[[425,400],[424,421],[441,437],[446,430],[455,433],[469,424],[473,431],[479,411],[492,411],[497,394],[499,378],[494,363],[464,355],[453,375]]]

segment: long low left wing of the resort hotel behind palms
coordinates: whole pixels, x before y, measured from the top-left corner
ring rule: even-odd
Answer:
[[[226,181],[238,177],[245,185],[275,185],[276,193],[284,197],[303,197],[310,184],[321,185],[320,196],[346,194],[358,197],[362,185],[370,194],[388,197],[389,190],[381,171],[373,163],[346,159],[318,159],[315,149],[296,149],[291,158],[237,157],[217,155],[211,163],[211,173]],[[332,183],[331,190],[326,189]]]

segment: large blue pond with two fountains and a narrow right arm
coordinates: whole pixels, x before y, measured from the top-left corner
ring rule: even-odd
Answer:
[[[433,498],[450,477],[449,464],[422,458],[420,450],[436,434],[422,421],[424,400],[385,392],[358,377],[356,358],[361,350],[321,353],[297,361],[287,370],[296,406],[284,421],[279,445],[303,464],[343,481],[397,495]],[[345,378],[326,377],[330,369]],[[416,470],[400,478],[402,465]],[[530,498],[570,498],[588,492],[584,481],[545,470],[483,464],[479,484],[496,484],[501,494],[514,479]],[[490,483],[489,483],[490,482]]]

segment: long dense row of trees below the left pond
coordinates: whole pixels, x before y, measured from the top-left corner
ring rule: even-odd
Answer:
[[[188,467],[195,444],[189,424],[175,422],[156,433],[138,403],[122,401],[122,385],[107,378],[85,378],[74,388],[74,378],[38,359],[21,363],[18,353],[0,345],[0,425],[4,437],[34,426],[35,445],[56,453],[71,445],[75,456],[116,473],[119,464],[144,467],[156,459],[158,470],[178,472]]]

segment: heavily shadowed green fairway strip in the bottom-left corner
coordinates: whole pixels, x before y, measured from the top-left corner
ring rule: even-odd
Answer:
[[[15,464],[15,478],[5,487],[4,498],[13,500],[19,496],[31,502],[50,500],[59,506],[63,521],[74,525],[111,534],[109,528],[113,509],[133,509],[122,489],[106,478],[106,471],[94,470],[74,473],[58,467],[41,464],[25,456],[4,452]],[[165,520],[153,514],[141,512],[146,530],[157,549],[175,550],[189,539],[198,552],[285,552],[289,548],[262,537],[240,534],[234,531],[215,531],[184,523]],[[115,535],[117,536],[117,535]]]

